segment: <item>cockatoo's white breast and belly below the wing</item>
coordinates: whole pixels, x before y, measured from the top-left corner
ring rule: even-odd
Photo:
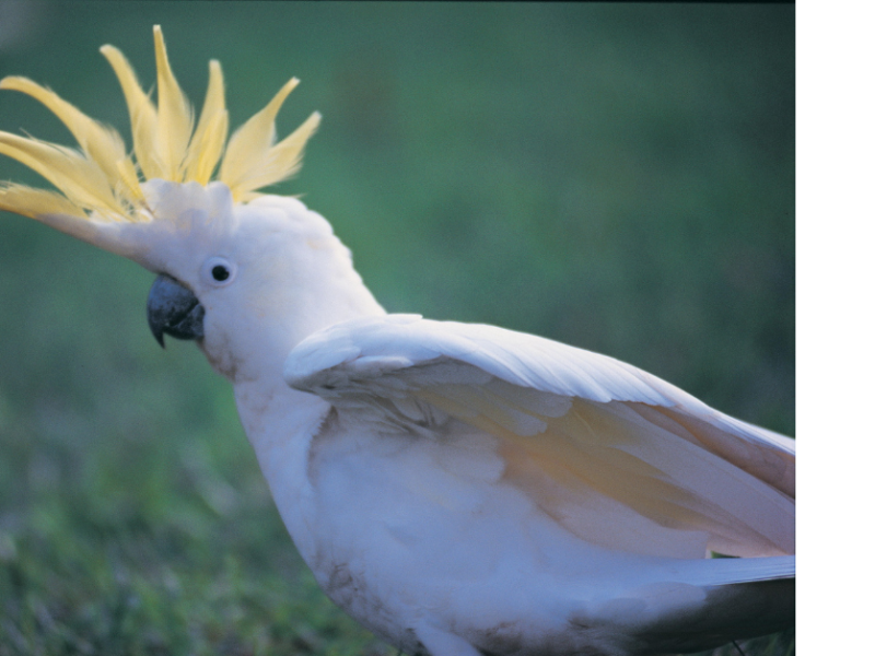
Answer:
[[[457,420],[428,434],[421,425],[362,430],[327,403],[299,401],[296,422],[308,421],[292,440],[277,435],[265,448],[248,430],[273,497],[320,587],[407,654],[663,653],[792,622],[792,581],[768,601],[758,584],[736,586],[744,629],[731,622],[721,632],[730,609],[720,598],[710,609],[719,621],[699,616],[721,587],[792,576],[793,558],[687,560],[598,547],[503,482],[499,441],[482,431]],[[686,632],[649,636],[666,626]]]

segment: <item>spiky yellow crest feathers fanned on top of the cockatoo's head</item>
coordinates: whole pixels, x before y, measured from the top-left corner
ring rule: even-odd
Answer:
[[[206,185],[213,177],[231,189],[235,202],[257,198],[257,190],[293,175],[307,139],[319,125],[314,112],[294,132],[276,141],[275,118],[298,85],[292,78],[267,107],[246,121],[228,141],[224,81],[219,62],[210,61],[210,80],[200,119],[194,113],[167,60],[161,27],[155,25],[158,107],[143,92],[125,56],[113,46],[101,52],[121,84],[130,112],[133,157],[116,130],[85,116],[48,89],[26,78],[8,77],[0,89],[26,93],[63,121],[80,151],[30,137],[0,131],[0,153],[45,177],[60,194],[24,185],[0,183],[0,209],[39,218],[68,214],[89,219],[149,220],[141,180],[162,178]],[[223,156],[224,151],[224,156]]]

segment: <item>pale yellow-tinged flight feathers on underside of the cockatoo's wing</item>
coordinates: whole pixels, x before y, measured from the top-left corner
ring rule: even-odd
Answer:
[[[483,391],[444,385],[413,394],[505,441],[512,465],[506,480],[548,514],[567,514],[555,500],[558,483],[568,493],[563,506],[595,491],[665,528],[707,532],[714,551],[793,552],[792,500],[676,433],[645,423],[635,411],[643,405],[573,399],[568,412],[550,418]],[[535,433],[538,424],[544,427]],[[772,507],[750,515],[750,507],[763,504]],[[599,542],[618,548],[626,538],[615,534]]]

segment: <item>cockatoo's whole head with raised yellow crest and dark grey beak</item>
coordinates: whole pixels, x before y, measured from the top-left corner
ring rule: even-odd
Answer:
[[[31,80],[0,89],[26,93],[69,128],[79,150],[0,131],[0,153],[30,166],[57,191],[0,183],[0,209],[132,259],[159,278],[149,293],[155,338],[196,339],[232,379],[281,367],[310,332],[362,313],[382,312],[352,269],[331,226],[295,198],[258,190],[293,175],[314,113],[276,142],[275,118],[298,84],[290,80],[228,139],[224,83],[210,62],[197,124],[171,71],[155,26],[158,105],[113,46],[101,52],[121,84],[133,153],[114,129],[89,118]],[[221,164],[220,164],[221,162]]]

